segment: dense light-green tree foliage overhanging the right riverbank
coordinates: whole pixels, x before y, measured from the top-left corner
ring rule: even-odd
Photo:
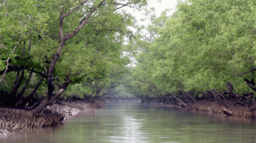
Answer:
[[[180,2],[172,16],[156,18],[154,9],[146,14],[148,34],[139,27],[126,45],[138,60],[127,90],[138,96],[256,91],[254,1],[191,0]]]

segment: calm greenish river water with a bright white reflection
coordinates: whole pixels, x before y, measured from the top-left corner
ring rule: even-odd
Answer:
[[[256,142],[256,124],[174,108],[109,103],[60,127],[10,137],[5,142]]]

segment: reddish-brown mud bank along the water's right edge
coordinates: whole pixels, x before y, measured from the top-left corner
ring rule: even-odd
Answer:
[[[183,111],[193,112],[195,114],[211,115],[218,119],[227,119],[234,122],[256,122],[256,102],[243,103],[233,99],[225,99],[220,101],[211,101],[209,99],[200,99],[193,102],[166,103],[160,104],[162,107],[176,107]]]

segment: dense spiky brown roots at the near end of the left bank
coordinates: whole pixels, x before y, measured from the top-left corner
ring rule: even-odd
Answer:
[[[49,127],[59,124],[64,119],[63,114],[44,110],[42,114],[31,115],[28,111],[16,109],[0,109],[0,136],[9,133],[20,133],[34,128]]]

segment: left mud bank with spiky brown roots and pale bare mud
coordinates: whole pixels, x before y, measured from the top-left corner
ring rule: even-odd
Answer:
[[[59,125],[75,117],[79,112],[101,108],[104,102],[59,101],[48,105],[41,114],[29,114],[26,110],[0,108],[0,139],[33,129]]]

